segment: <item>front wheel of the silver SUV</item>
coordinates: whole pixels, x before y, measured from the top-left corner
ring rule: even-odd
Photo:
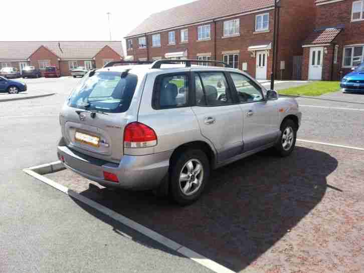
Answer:
[[[297,125],[293,120],[283,121],[280,128],[281,135],[275,146],[278,155],[286,157],[292,153],[296,146],[297,130]]]

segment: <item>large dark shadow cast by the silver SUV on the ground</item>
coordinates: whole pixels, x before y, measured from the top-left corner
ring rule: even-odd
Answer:
[[[115,191],[92,184],[81,194],[241,271],[320,202],[329,187],[326,177],[337,164],[329,154],[303,147],[288,158],[263,152],[215,170],[205,194],[188,207],[150,192]],[[77,203],[100,218],[87,205]],[[111,220],[108,223],[113,225]]]

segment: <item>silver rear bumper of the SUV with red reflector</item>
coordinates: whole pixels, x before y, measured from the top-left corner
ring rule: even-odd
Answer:
[[[172,151],[144,156],[124,155],[119,164],[87,156],[67,146],[58,146],[57,153],[59,158],[63,156],[66,168],[103,186],[146,190],[160,185],[168,173]],[[104,180],[104,171],[115,174],[119,183]]]

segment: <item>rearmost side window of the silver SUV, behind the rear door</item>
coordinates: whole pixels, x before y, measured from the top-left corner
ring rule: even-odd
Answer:
[[[154,108],[178,108],[188,105],[189,76],[187,74],[161,75],[156,81]]]

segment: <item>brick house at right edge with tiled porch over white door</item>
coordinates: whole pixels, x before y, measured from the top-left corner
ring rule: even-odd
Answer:
[[[364,61],[364,0],[316,0],[303,43],[302,79],[339,80]]]

